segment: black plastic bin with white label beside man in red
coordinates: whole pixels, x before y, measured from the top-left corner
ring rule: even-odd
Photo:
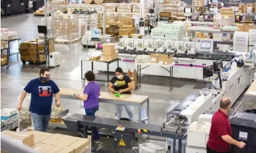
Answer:
[[[243,149],[231,146],[232,153],[255,153],[256,152],[256,114],[238,113],[230,119],[232,137],[237,141],[244,141]]]

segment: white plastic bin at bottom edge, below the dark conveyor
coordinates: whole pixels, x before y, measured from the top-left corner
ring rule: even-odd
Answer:
[[[166,153],[166,148],[153,143],[139,144],[139,153]]]

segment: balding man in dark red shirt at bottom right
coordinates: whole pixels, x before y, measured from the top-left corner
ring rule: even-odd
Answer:
[[[246,146],[243,141],[236,141],[232,138],[232,129],[227,116],[231,107],[231,101],[230,98],[222,98],[219,110],[214,113],[211,119],[207,153],[230,153],[230,144],[238,146],[241,149]]]

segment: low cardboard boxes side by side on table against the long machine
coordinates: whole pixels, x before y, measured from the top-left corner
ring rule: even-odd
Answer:
[[[174,62],[174,54],[150,54],[150,63],[169,65]]]

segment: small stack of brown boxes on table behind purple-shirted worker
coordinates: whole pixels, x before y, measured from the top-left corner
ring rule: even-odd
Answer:
[[[103,44],[103,60],[111,61],[119,58],[118,49],[114,43]]]

